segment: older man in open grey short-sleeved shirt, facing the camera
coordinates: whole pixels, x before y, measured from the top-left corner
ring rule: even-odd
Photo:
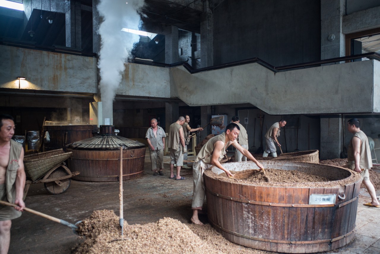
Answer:
[[[154,176],[157,176],[157,163],[158,167],[160,167],[158,174],[160,176],[164,175],[162,170],[164,168],[165,137],[164,130],[160,126],[157,126],[157,119],[153,118],[150,120],[150,128],[147,130],[145,138],[149,145],[150,163]]]

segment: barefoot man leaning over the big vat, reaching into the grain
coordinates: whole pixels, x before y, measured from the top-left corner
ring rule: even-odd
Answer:
[[[211,166],[215,166],[225,171],[227,177],[233,176],[230,171],[226,170],[223,165],[220,164],[220,160],[222,160],[223,156],[226,154],[226,148],[228,146],[233,145],[245,157],[255,162],[259,168],[263,168],[263,165],[261,165],[247,149],[242,148],[242,146],[237,143],[236,138],[239,136],[239,133],[239,125],[231,122],[226,126],[224,133],[209,139],[209,141],[207,141],[202,147],[201,151],[199,151],[198,156],[196,156],[193,164],[193,216],[191,217],[191,221],[195,224],[203,224],[199,221],[198,213],[202,210],[203,201],[206,197],[203,178],[204,171]]]

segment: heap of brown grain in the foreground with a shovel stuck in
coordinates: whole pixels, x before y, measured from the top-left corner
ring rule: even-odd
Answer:
[[[201,240],[187,225],[163,218],[144,225],[124,221],[121,237],[119,217],[112,210],[94,211],[78,225],[86,240],[74,253],[223,253]]]

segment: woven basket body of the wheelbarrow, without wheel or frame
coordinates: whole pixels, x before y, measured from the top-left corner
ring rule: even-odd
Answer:
[[[27,155],[24,157],[26,176],[32,179],[32,181],[35,181],[61,162],[70,158],[72,155],[73,152],[64,152],[62,148]]]

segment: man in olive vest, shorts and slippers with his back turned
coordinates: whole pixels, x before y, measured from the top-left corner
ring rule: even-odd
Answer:
[[[170,177],[176,180],[185,180],[180,176],[182,164],[184,163],[184,154],[187,152],[185,146],[184,130],[182,125],[185,122],[185,117],[180,116],[176,122],[169,126],[169,141],[168,148],[170,151]],[[177,175],[174,175],[174,164],[177,164]]]

